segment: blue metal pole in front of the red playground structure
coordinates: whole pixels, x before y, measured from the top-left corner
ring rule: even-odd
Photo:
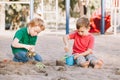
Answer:
[[[101,34],[105,33],[105,0],[101,0]]]

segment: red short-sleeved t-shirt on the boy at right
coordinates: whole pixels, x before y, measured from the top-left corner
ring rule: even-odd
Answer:
[[[94,36],[91,33],[86,36],[80,36],[78,32],[74,32],[69,34],[69,38],[74,39],[73,54],[82,53],[94,47]]]

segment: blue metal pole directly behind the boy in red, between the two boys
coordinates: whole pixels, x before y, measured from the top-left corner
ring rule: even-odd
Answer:
[[[65,0],[66,4],[66,34],[69,34],[69,16],[70,16],[70,0]]]

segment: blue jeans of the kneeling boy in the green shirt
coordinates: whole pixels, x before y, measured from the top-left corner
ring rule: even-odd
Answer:
[[[33,57],[36,61],[42,61],[42,58],[39,54],[36,53],[36,55]],[[19,53],[14,54],[13,61],[15,62],[27,62],[30,58],[27,56],[27,52],[21,51]]]

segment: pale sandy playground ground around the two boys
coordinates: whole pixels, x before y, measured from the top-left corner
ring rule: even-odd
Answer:
[[[53,34],[42,34],[37,41],[36,51],[42,56],[44,67],[33,61],[15,63],[11,61],[10,48],[13,35],[10,31],[0,32],[0,80],[120,80],[119,35],[95,35],[94,54],[103,59],[102,69],[56,65],[65,53],[62,35]]]

